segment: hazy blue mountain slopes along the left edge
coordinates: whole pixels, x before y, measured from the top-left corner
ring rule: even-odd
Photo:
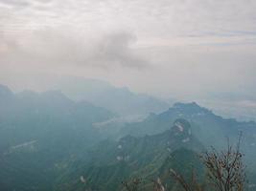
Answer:
[[[94,122],[114,115],[60,92],[13,94],[0,86],[0,188],[51,190],[66,159],[102,139]]]

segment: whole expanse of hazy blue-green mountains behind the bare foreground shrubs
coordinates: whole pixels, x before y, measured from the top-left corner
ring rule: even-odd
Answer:
[[[175,103],[139,121],[120,122],[120,114],[59,91],[14,94],[0,86],[0,190],[122,190],[122,180],[160,178],[177,189],[173,168],[203,179],[198,159],[213,145],[237,142],[256,180],[256,123],[223,118],[196,102]],[[253,186],[252,186],[253,187]],[[252,189],[253,190],[253,189]]]

